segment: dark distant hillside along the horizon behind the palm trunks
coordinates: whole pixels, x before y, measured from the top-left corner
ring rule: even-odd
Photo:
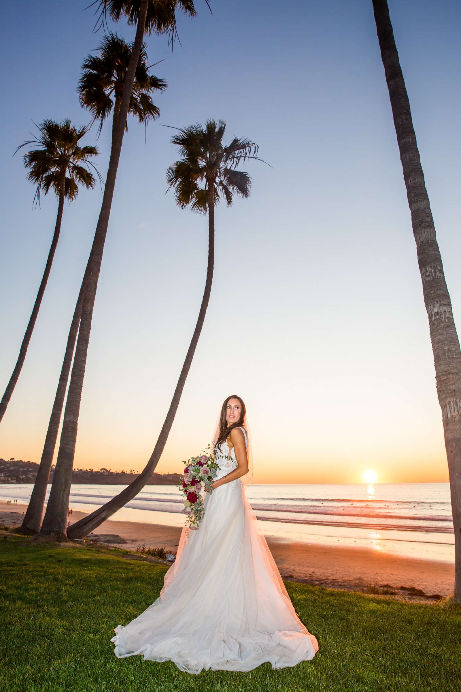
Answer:
[[[23,462],[21,459],[0,459],[0,483],[33,483],[39,464],[35,462]],[[50,482],[53,480],[55,466],[51,467]],[[98,471],[84,471],[76,468],[72,473],[72,482],[82,484],[102,485],[128,485],[137,476],[137,473],[126,471],[109,471],[109,468],[100,468]],[[153,473],[147,485],[178,485],[179,473]]]

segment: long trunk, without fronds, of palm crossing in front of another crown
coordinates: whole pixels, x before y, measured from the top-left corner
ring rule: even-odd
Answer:
[[[88,259],[88,264],[86,266],[86,271],[82,282],[82,284],[85,285],[84,300],[82,304],[82,318],[80,320],[72,374],[70,375],[70,384],[67,394],[66,408],[64,410],[64,422],[62,426],[55,474],[50,490],[50,497],[48,498],[48,504],[46,506],[46,513],[41,525],[42,534],[55,536],[58,540],[63,540],[66,538],[66,516],[70,494],[70,483],[72,481],[75,442],[77,440],[77,422],[79,417],[80,401],[82,399],[86,356],[88,354],[88,342],[90,339],[91,318],[93,317],[97,280],[100,275],[102,253],[104,251],[104,242],[106,239],[107,228],[109,226],[109,216],[111,214],[115,179],[117,177],[117,168],[120,161],[120,152],[122,150],[124,124],[128,116],[136,66],[138,65],[142,47],[142,39],[144,38],[147,5],[148,0],[141,0],[138,27],[136,28],[133,51],[131,53],[129,66],[126,71],[122,104],[120,105],[120,115],[117,122],[117,131],[115,133],[115,137],[113,138],[111,147],[111,158],[106,176],[106,185],[104,186],[104,196],[102,199],[100,217],[97,221],[93,246],[91,248],[90,257]]]

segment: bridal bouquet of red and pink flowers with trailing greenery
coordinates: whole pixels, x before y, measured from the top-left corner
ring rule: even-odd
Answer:
[[[207,450],[209,450],[209,445],[204,451]],[[179,489],[185,495],[184,513],[187,515],[186,527],[198,529],[205,514],[203,495],[200,495],[200,491],[208,487],[210,492],[213,492],[211,483],[216,478],[219,466],[211,453],[203,454],[200,457],[192,457],[187,462],[182,463],[186,464],[186,467]]]

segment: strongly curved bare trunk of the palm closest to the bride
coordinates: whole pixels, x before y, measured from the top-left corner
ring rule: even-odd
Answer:
[[[138,475],[133,482],[126,486],[124,490],[115,498],[103,504],[102,507],[96,509],[88,516],[75,522],[72,526],[67,529],[67,535],[69,538],[82,538],[93,531],[96,527],[100,526],[102,522],[112,516],[118,509],[124,507],[126,502],[132,500],[135,495],[138,495],[140,490],[144,488],[151,477],[153,471],[155,471],[158,464],[158,460],[162,456],[164,446],[167,442],[171,426],[173,425],[174,418],[176,416],[176,411],[178,410],[182,390],[187,379],[187,374],[191,367],[192,359],[196,352],[196,347],[198,339],[200,337],[200,332],[202,331],[203,322],[205,320],[205,315],[207,313],[207,307],[209,303],[209,296],[211,293],[211,284],[213,282],[213,268],[214,268],[214,185],[209,185],[208,189],[208,266],[207,266],[207,279],[205,281],[205,291],[203,292],[202,304],[200,305],[200,311],[198,313],[198,320],[196,323],[196,328],[194,329],[194,334],[192,335],[191,343],[186,354],[184,364],[182,365],[182,370],[176,384],[176,389],[174,390],[173,399],[169,410],[167,412],[167,417],[164,420],[162,430],[160,430],[160,435],[158,436],[156,446],[153,449],[153,453],[149,462],[143,469],[143,471]]]

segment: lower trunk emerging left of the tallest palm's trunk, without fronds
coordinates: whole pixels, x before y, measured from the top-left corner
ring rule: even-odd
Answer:
[[[67,383],[72,364],[72,356],[74,354],[75,340],[77,340],[78,327],[80,316],[82,314],[82,302],[84,295],[84,286],[80,288],[77,305],[70,324],[70,330],[67,338],[66,353],[62,363],[61,374],[57,385],[55,402],[51,410],[50,422],[46,432],[45,444],[41,453],[40,466],[35,478],[35,484],[30,495],[26,515],[23,518],[21,526],[16,529],[19,534],[37,534],[40,530],[41,515],[44,511],[46,498],[46,490],[48,488],[48,480],[50,478],[51,464],[55,454],[57,432],[59,423],[61,422],[62,407],[64,406],[64,397],[66,396]]]

